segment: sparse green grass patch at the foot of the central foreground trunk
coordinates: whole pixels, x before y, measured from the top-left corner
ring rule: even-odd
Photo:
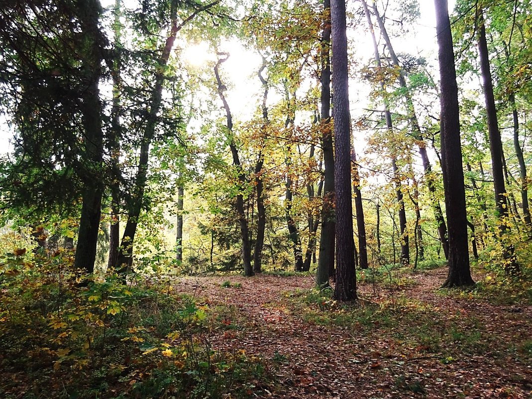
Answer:
[[[299,290],[287,294],[295,316],[310,324],[357,331],[357,335],[386,333],[398,345],[442,359],[464,353],[483,353],[493,340],[475,317],[446,314],[434,306],[406,297],[392,302],[340,304],[330,291]]]

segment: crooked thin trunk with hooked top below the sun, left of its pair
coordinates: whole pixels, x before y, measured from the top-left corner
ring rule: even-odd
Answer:
[[[226,96],[223,94],[223,91],[225,90],[225,86],[222,84],[222,81],[220,79],[220,74],[218,73],[218,68],[220,67],[220,64],[222,62],[227,61],[229,54],[227,53],[220,53],[220,56],[223,56],[225,58],[220,58],[214,67],[214,75],[216,76],[216,81],[218,83],[218,95],[220,96],[220,99],[223,103],[223,108],[226,111],[226,119],[227,119],[227,131],[229,133],[230,142],[229,142],[229,149],[231,150],[231,155],[233,159],[233,165],[238,170],[238,194],[236,196],[236,211],[238,215],[238,223],[240,225],[240,238],[242,239],[242,262],[244,263],[244,274],[248,277],[252,276],[253,273],[253,266],[251,264],[251,243],[250,243],[250,229],[247,224],[247,218],[246,213],[244,210],[244,196],[243,191],[245,190],[246,185],[246,175],[244,174],[244,171],[242,169],[242,164],[240,164],[240,158],[238,157],[238,149],[236,148],[235,139],[233,137],[232,132],[232,115],[231,110],[229,108],[229,104],[227,103]]]

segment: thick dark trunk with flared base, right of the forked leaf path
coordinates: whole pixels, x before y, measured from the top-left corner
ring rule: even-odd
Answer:
[[[443,185],[449,239],[449,274],[443,287],[473,284],[469,268],[467,215],[460,143],[460,110],[454,67],[453,38],[447,0],[435,0],[440,71],[440,131]]]

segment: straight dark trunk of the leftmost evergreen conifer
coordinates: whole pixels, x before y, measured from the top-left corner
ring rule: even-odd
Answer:
[[[101,32],[99,15],[102,8],[96,0],[78,2],[82,35],[86,39],[86,53],[82,60],[86,89],[82,94],[82,123],[86,161],[92,165],[85,176],[85,190],[82,193],[81,218],[74,267],[87,273],[94,272],[99,222],[102,211],[103,176],[103,131],[102,103],[99,99],[98,83],[101,77]]]

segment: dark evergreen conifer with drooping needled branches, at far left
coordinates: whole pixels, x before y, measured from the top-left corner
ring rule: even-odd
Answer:
[[[2,105],[18,131],[3,201],[32,217],[80,212],[74,266],[87,273],[94,271],[105,186],[101,13],[99,2],[79,0],[13,2],[0,14],[0,76],[9,93]]]

